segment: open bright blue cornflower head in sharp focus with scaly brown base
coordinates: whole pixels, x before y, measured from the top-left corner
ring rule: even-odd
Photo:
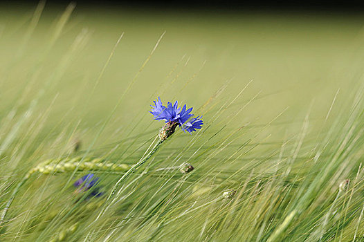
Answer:
[[[187,130],[189,133],[196,131],[196,129],[201,129],[203,124],[201,120],[202,117],[192,118],[192,107],[187,109],[187,106],[184,105],[181,109],[181,107],[178,106],[177,101],[174,102],[174,104],[168,102],[167,106],[163,106],[161,97],[158,97],[156,101],[153,102],[154,105],[151,105],[152,111],[149,111],[149,113],[154,115],[154,120],[165,120],[166,122],[159,134],[161,141],[171,136],[177,126],[181,127],[183,130]],[[190,118],[192,118],[192,120],[190,120]],[[190,120],[190,122],[188,122],[188,120]]]

